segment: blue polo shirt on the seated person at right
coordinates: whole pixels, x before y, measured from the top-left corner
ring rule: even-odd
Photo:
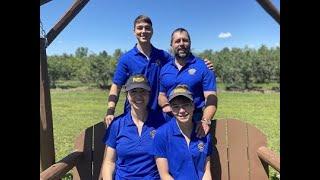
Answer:
[[[194,128],[188,147],[175,118],[158,128],[153,141],[152,154],[167,159],[169,173],[175,180],[201,180],[206,158],[211,153],[210,133],[203,138],[197,138]]]

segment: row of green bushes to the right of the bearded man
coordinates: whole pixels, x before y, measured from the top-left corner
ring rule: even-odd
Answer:
[[[252,89],[255,83],[280,83],[280,47],[205,50],[199,56],[213,60],[218,80],[227,89]]]

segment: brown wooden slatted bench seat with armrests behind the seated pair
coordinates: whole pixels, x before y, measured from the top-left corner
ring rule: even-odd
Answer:
[[[104,125],[97,123],[75,140],[75,150],[40,174],[40,179],[59,179],[69,170],[73,179],[99,179],[104,156]],[[267,138],[257,128],[235,119],[214,120],[211,133],[214,180],[268,180],[269,165],[280,172],[280,157],[266,148]]]

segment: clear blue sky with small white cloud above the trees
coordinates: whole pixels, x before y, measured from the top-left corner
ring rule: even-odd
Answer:
[[[280,0],[271,0],[280,9]],[[40,7],[46,33],[74,0],[53,0]],[[47,47],[47,54],[130,50],[136,43],[133,21],[140,15],[153,22],[152,44],[168,50],[171,32],[183,27],[190,33],[192,49],[219,51],[224,47],[279,46],[280,26],[256,0],[90,0]]]

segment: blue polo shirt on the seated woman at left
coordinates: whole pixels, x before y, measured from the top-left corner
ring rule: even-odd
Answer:
[[[139,136],[130,112],[112,121],[106,130],[104,142],[117,153],[115,179],[160,179],[150,152],[156,129],[163,123],[153,112],[149,112]]]

